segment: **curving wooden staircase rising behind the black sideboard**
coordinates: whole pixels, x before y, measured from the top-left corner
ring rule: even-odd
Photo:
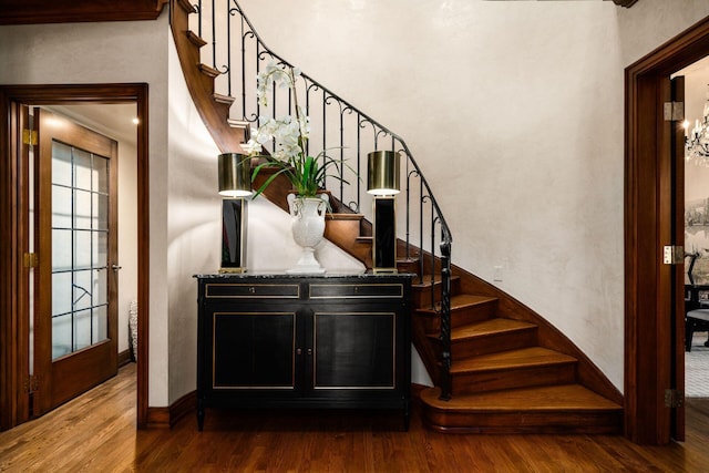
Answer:
[[[238,4],[233,4],[235,13],[243,16]],[[199,6],[203,8],[202,2]],[[197,110],[217,146],[223,152],[232,152],[239,150],[239,144],[248,137],[246,117],[249,114],[244,105],[243,117],[232,120],[233,94],[215,92],[215,81],[225,72],[229,72],[230,91],[232,68],[220,72],[215,55],[213,65],[202,63],[201,49],[208,42],[201,38],[199,31],[195,33],[189,28],[189,16],[198,13],[197,10],[187,0],[172,0],[173,34]],[[199,14],[198,30],[202,30],[202,17]],[[255,35],[245,17],[240,28],[240,38],[245,38],[245,31],[247,35]],[[265,50],[280,59],[260,43],[259,48],[257,51],[261,54]],[[310,84],[327,92],[315,81]],[[323,95],[328,94],[323,92]],[[379,134],[391,136],[412,162],[398,136],[342,101],[340,120],[342,109],[357,112],[358,126],[364,123],[376,128],[374,145]],[[413,166],[408,175],[419,176],[415,163]],[[419,177],[421,187],[428,189],[423,177]],[[259,174],[259,179],[266,178],[265,173]],[[265,195],[287,210],[288,191],[289,184],[282,178],[275,181]],[[326,238],[371,268],[371,224],[359,213],[359,198],[357,196],[352,209],[351,205],[343,204],[349,200],[342,189],[331,197],[333,213],[327,217]],[[444,248],[451,243],[448,227],[436,214],[439,209],[432,195],[421,191],[419,203],[431,200],[434,207],[431,213],[435,217],[431,217],[430,234],[433,236],[433,228],[441,226],[438,243]],[[418,220],[423,226],[423,213]],[[404,257],[398,266],[400,271],[417,274],[412,300],[413,343],[435,384],[419,390],[423,420],[429,428],[476,433],[621,433],[623,395],[575,345],[523,304],[462,268],[451,266],[444,250],[441,255],[434,253],[433,243],[423,249],[423,236],[418,247],[412,245],[408,233],[407,219],[407,238],[399,240],[398,247],[398,254]],[[449,337],[450,350],[446,349]]]

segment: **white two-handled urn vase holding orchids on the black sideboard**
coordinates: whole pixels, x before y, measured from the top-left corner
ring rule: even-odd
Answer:
[[[315,247],[322,241],[322,235],[325,234],[327,200],[328,196],[326,194],[321,194],[320,197],[288,195],[292,239],[302,248],[302,254],[296,266],[286,273],[290,275],[325,273],[325,268],[315,258]]]

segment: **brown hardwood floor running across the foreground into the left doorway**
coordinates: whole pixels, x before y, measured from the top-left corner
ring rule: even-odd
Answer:
[[[639,446],[615,435],[451,435],[399,413],[215,412],[173,430],[135,430],[135,364],[86,394],[0,433],[8,472],[700,472],[709,399],[687,402],[687,442]]]

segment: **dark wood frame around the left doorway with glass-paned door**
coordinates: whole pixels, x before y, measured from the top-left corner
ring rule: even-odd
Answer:
[[[19,104],[58,105],[76,103],[135,103],[137,107],[137,426],[148,415],[148,306],[150,306],[150,213],[148,213],[148,85],[72,84],[0,86],[0,430],[23,421],[28,412],[23,394],[23,369],[28,366],[29,327],[19,313],[23,269],[19,232],[19,157],[21,131]],[[29,371],[24,371],[29,372]]]

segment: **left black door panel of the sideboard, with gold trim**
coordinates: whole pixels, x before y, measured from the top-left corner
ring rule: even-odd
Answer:
[[[215,312],[213,388],[294,389],[295,313]]]

